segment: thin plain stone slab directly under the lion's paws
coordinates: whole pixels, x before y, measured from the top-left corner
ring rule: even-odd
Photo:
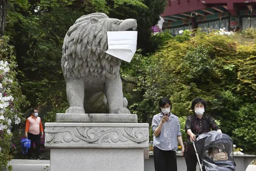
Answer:
[[[56,114],[56,122],[138,123],[136,114]]]

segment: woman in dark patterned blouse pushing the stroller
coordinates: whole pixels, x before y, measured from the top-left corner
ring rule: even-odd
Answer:
[[[189,115],[186,119],[185,130],[187,132],[187,142],[185,144],[184,157],[186,160],[187,171],[196,171],[196,153],[192,144],[195,141],[196,135],[210,132],[211,129],[220,133],[220,126],[216,124],[211,116],[204,115],[206,102],[202,98],[196,98],[191,104],[194,111],[193,115]]]

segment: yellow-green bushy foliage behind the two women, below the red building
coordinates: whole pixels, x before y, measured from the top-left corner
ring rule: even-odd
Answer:
[[[218,31],[196,31],[193,37],[190,34],[184,31],[183,35],[168,38],[156,53],[135,56],[134,63],[139,60],[137,68],[142,72],[132,73],[138,82],[133,90],[141,96],[139,101],[138,96],[130,97],[135,101],[130,109],[141,122],[151,123],[152,116],[159,112],[159,98],[168,96],[173,103],[172,113],[182,118],[192,114],[192,100],[202,97],[207,101],[206,114],[220,120],[223,132],[240,147],[239,141],[247,138],[244,151],[252,151],[256,146],[249,148],[249,141],[255,139],[249,140],[249,136],[253,138],[255,133],[246,136],[246,130],[251,130],[249,123],[254,122],[256,114],[252,107],[256,104],[255,43],[240,43],[236,34],[219,35]]]

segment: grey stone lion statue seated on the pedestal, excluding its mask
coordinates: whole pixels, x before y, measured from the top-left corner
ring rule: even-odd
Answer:
[[[66,113],[130,114],[120,78],[121,59],[105,53],[107,31],[137,28],[135,19],[93,13],[76,20],[66,33],[61,66],[69,108]]]

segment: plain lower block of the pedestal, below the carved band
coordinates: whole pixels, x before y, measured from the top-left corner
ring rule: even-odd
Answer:
[[[143,149],[51,149],[51,171],[144,171]]]

